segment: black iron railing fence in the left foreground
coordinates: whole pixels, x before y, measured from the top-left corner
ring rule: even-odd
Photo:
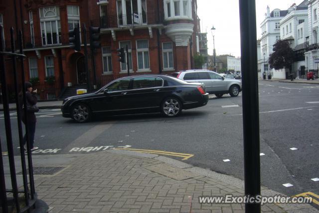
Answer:
[[[2,31],[2,27],[0,26],[0,32]],[[4,51],[4,42],[0,42],[0,82],[1,82],[1,101],[3,105],[3,117],[4,117],[4,127],[0,127],[5,131],[5,141],[6,144],[3,143],[3,140],[0,138],[0,212],[1,213],[24,213],[30,212],[32,209],[37,209],[38,200],[37,195],[35,193],[35,186],[34,186],[34,178],[33,178],[33,166],[32,166],[32,157],[31,157],[31,147],[29,142],[28,135],[30,134],[27,131],[28,128],[28,116],[25,116],[25,134],[26,134],[26,156],[24,150],[24,142],[23,142],[23,129],[22,129],[22,113],[25,115],[27,114],[26,107],[22,108],[23,106],[27,106],[26,95],[25,95],[25,88],[24,88],[24,65],[23,63],[17,63],[17,58],[23,61],[23,58],[26,56],[23,54],[22,42],[19,42],[20,52],[16,53],[14,47],[14,31],[13,28],[10,30],[11,32],[11,52]],[[22,41],[22,31],[19,31],[19,40]],[[2,41],[2,35],[0,33],[0,41]],[[7,64],[5,67],[4,58],[10,58],[11,62],[10,65]],[[17,72],[17,66],[21,66],[20,70],[21,73]],[[14,85],[11,91],[8,90],[8,85],[6,83],[6,76],[12,75]],[[18,76],[21,78],[18,79]],[[22,86],[23,85],[23,86]],[[17,94],[22,87],[22,100],[17,97]],[[18,127],[18,144],[19,144],[19,156],[14,154],[14,147],[17,146],[12,139],[12,130],[11,130],[11,112],[9,110],[9,95],[14,96],[14,102],[16,107],[16,121]],[[13,94],[12,94],[13,93]],[[2,144],[3,143],[3,144]],[[6,145],[6,146],[5,146]],[[3,148],[3,152],[2,152]],[[3,153],[6,153],[3,155]],[[17,153],[16,153],[17,154]],[[20,157],[20,159],[18,159]],[[27,159],[25,159],[27,158]],[[16,166],[15,161],[18,160],[21,162],[21,167],[18,168]],[[7,162],[7,163],[6,163]],[[26,164],[27,162],[27,164]],[[6,180],[6,176],[4,175],[4,167],[9,169],[9,179]],[[22,181],[19,182],[17,180],[17,173],[16,170],[20,169],[22,174]],[[43,208],[43,207],[42,207]],[[48,210],[47,205],[44,209]],[[35,210],[37,211],[37,210]]]

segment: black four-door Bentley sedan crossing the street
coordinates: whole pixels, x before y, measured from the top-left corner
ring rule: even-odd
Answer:
[[[206,105],[202,83],[187,83],[166,75],[136,75],[116,79],[96,92],[63,100],[62,116],[86,122],[94,115],[160,112],[178,116],[182,109]]]

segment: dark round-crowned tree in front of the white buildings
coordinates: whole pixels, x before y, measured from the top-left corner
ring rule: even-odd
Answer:
[[[282,69],[289,67],[294,62],[294,50],[289,46],[288,40],[278,40],[274,44],[273,53],[269,55],[270,68]]]

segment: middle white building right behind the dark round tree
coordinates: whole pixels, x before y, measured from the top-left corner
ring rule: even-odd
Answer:
[[[308,37],[308,6],[304,0],[299,5],[293,4],[288,8],[287,15],[280,21],[280,38],[286,39],[290,43],[290,47],[294,49],[295,54],[300,53],[299,57],[295,57],[292,64],[293,73],[299,73],[305,70],[306,38]],[[297,54],[296,54],[297,55]],[[274,78],[286,79],[289,75],[289,69],[274,70]],[[298,76],[295,76],[298,77]]]

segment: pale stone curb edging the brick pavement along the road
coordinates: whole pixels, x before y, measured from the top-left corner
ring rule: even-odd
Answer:
[[[237,187],[239,189],[242,189],[242,190],[245,189],[244,181],[242,181],[238,178],[234,178],[234,177],[229,176],[229,175],[223,175],[220,173],[216,173],[216,172],[213,172],[211,170],[207,170],[207,169],[203,169],[203,168],[199,168],[199,167],[194,167],[190,164],[186,164],[184,162],[177,161],[177,160],[167,158],[164,156],[159,156],[159,155],[155,155],[155,154],[148,154],[148,153],[139,153],[139,152],[134,152],[134,151],[126,151],[126,150],[108,150],[105,152],[119,154],[119,155],[152,158],[152,159],[161,161],[163,163],[166,163],[170,166],[177,167],[179,169],[183,169],[187,172],[197,173],[197,174],[202,175],[202,176],[214,178],[218,181],[221,181],[221,182],[226,183],[228,185],[232,185],[232,186]],[[261,194],[263,196],[275,196],[275,195],[286,196],[282,193],[270,190],[267,187],[262,187],[262,186],[261,186]],[[280,208],[282,208],[287,213],[304,213],[304,212],[318,213],[318,210],[309,204],[276,204],[276,205],[279,206]]]

